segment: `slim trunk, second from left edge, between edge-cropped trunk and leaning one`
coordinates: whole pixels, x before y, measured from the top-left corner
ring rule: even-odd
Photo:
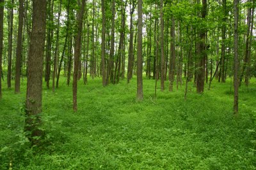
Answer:
[[[11,88],[12,80],[12,34],[13,34],[13,5],[14,1],[12,0],[12,6],[9,13],[9,34],[8,34],[8,71],[7,71],[7,87]]]

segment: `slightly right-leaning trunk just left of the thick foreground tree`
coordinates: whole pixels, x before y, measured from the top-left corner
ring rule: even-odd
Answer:
[[[15,70],[15,93],[20,93],[20,69],[22,57],[22,27],[24,15],[24,1],[19,0],[19,26],[17,38],[17,51],[16,51],[16,70]]]

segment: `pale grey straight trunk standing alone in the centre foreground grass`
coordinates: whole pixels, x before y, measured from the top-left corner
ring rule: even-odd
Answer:
[[[137,100],[143,100],[142,78],[142,0],[138,0]]]

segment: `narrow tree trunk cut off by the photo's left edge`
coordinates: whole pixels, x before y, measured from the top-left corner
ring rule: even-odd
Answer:
[[[0,99],[2,97],[2,56],[4,36],[4,0],[0,0]]]

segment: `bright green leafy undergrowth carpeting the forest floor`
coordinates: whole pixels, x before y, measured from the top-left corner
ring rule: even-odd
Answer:
[[[255,79],[239,90],[237,118],[230,80],[214,80],[204,94],[189,83],[187,101],[185,86],[168,92],[168,82],[154,99],[154,82],[143,81],[137,102],[136,78],[108,87],[79,81],[76,113],[72,84],[63,77],[53,93],[44,83],[45,137],[32,148],[23,132],[26,80],[18,95],[4,87],[0,169],[256,169]]]

